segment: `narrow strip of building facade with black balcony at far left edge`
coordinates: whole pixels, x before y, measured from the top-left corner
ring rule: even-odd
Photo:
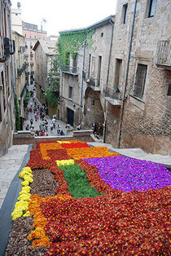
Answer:
[[[0,157],[7,153],[15,130],[14,81],[12,58],[15,42],[11,40],[11,1],[0,1]]]

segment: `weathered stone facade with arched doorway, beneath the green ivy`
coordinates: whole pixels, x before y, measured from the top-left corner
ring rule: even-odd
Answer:
[[[114,16],[100,20],[85,29],[64,31],[79,33],[94,29],[93,43],[80,47],[75,60],[68,52],[68,66],[62,68],[61,79],[61,118],[71,126],[91,128],[94,122],[103,125],[104,97],[103,90],[107,82],[112,44]]]

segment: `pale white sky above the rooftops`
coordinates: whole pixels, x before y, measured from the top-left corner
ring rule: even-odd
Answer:
[[[21,4],[21,18],[25,22],[41,28],[42,19],[46,20],[43,30],[47,35],[59,31],[81,29],[115,15],[117,0],[11,0],[11,8]]]

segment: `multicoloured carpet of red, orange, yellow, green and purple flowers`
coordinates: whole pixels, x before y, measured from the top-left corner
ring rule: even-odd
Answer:
[[[32,193],[33,170],[49,170],[55,196]],[[46,255],[169,255],[171,173],[80,141],[46,141],[20,173],[14,223],[33,218],[27,236]],[[23,231],[24,232],[24,231]]]

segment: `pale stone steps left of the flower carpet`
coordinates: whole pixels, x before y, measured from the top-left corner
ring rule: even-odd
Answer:
[[[5,156],[0,157],[0,208],[7,195],[12,179],[20,169],[28,147],[29,145],[12,146],[8,149]]]

